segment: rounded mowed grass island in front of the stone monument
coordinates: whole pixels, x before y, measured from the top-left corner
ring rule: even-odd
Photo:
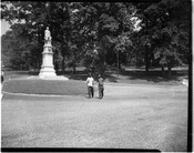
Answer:
[[[27,94],[86,94],[86,84],[83,81],[62,80],[11,80],[3,83],[2,91]]]

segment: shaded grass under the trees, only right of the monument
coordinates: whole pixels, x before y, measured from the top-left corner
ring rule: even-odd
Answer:
[[[88,76],[88,71],[76,71],[75,74],[73,74],[72,72],[65,72],[65,75],[69,76],[69,79],[72,80],[82,80],[85,81],[86,76]],[[144,81],[149,81],[149,82],[170,82],[170,81],[180,81],[180,76],[187,76],[187,71],[186,70],[176,70],[176,71],[172,71],[172,78],[169,79],[167,78],[167,72],[165,71],[164,76],[162,75],[162,72],[160,70],[150,70],[147,73],[145,71],[141,71],[141,70],[135,70],[135,71],[121,71],[119,76],[123,78],[127,81],[127,80],[144,80]],[[98,78],[98,74],[94,75],[94,78]],[[104,73],[103,76],[105,80],[108,80],[109,82],[118,82],[118,74],[115,71],[106,71]]]

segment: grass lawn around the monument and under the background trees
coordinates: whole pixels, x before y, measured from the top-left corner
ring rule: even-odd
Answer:
[[[4,83],[2,91],[13,93],[28,94],[59,94],[59,95],[78,95],[86,94],[85,80],[88,71],[78,70],[75,74],[71,71],[65,72],[69,81],[61,80],[39,80],[27,79],[38,73],[29,73],[28,71],[7,71],[4,73]],[[61,75],[58,73],[58,75]],[[120,71],[119,83],[124,84],[156,84],[156,85],[180,85],[182,80],[187,78],[187,69],[173,70],[172,79],[163,78],[161,70],[152,69],[145,73],[141,69],[127,68]],[[118,74],[115,71],[106,71],[104,74],[105,83],[118,84]],[[95,89],[96,90],[96,89]]]

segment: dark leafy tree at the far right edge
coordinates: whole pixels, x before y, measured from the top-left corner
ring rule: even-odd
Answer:
[[[151,40],[154,57],[160,59],[162,67],[167,65],[171,78],[172,68],[182,64],[188,53],[190,3],[163,0],[152,4],[146,11],[153,20]]]

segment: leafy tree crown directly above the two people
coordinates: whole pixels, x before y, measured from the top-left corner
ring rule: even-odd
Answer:
[[[100,49],[99,55],[103,57],[101,62],[109,63],[112,57],[112,61],[118,63],[116,58],[114,58],[116,50],[125,49],[123,45],[130,44],[122,41],[130,38],[134,28],[132,21],[133,6],[123,2],[94,2],[86,3],[85,8],[86,10],[82,12],[85,29],[89,31],[86,35],[89,52],[92,53],[92,47],[96,44]],[[109,54],[109,60],[105,54]]]

